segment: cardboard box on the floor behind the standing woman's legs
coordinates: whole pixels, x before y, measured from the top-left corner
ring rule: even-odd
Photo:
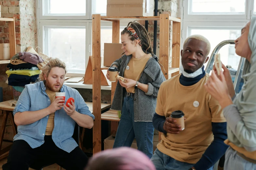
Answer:
[[[104,150],[113,149],[114,141],[115,141],[115,138],[113,138],[112,135],[107,137],[104,140]],[[154,135],[154,138],[153,138],[153,153],[157,148],[157,144],[158,144],[158,135]],[[131,148],[138,149],[136,139],[133,140],[133,142],[131,144]]]

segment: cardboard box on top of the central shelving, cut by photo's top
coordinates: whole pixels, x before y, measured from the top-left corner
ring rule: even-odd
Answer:
[[[107,16],[150,17],[154,16],[154,0],[108,0]]]

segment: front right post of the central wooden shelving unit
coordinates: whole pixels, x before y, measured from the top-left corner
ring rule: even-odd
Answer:
[[[159,63],[164,67],[161,68],[166,79],[169,70],[169,35],[169,14],[160,14]]]

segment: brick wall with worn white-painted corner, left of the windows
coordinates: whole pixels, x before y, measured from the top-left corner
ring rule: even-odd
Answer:
[[[16,52],[26,51],[28,46],[37,46],[37,25],[35,0],[0,0],[1,17],[15,17]],[[8,22],[0,21],[0,43],[9,43]],[[0,65],[0,87],[3,87],[4,101],[12,98],[11,86],[5,82],[7,64]]]

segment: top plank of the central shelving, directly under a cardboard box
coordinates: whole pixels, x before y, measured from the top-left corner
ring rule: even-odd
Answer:
[[[120,21],[120,20],[131,20],[131,19],[135,19],[138,21],[158,21],[160,20],[160,16],[153,16],[153,17],[109,17],[109,16],[101,16],[100,17],[101,20],[103,21]]]

